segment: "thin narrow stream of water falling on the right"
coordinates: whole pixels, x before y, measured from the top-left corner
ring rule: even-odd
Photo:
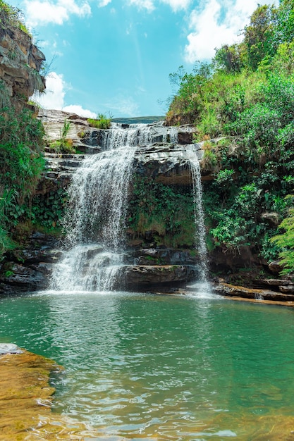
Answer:
[[[195,242],[197,242],[197,251],[200,257],[200,282],[207,282],[208,259],[207,259],[207,246],[205,242],[206,232],[204,225],[204,209],[202,204],[201,170],[196,151],[192,149],[192,147],[188,146],[186,152],[188,159],[190,161],[190,168],[192,175],[194,218],[195,218],[195,227],[196,227]]]

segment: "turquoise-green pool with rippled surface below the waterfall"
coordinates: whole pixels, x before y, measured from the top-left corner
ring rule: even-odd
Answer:
[[[265,435],[274,418],[292,424],[293,309],[38,293],[0,299],[0,342],[63,365],[52,378],[54,412],[111,440],[277,440]]]

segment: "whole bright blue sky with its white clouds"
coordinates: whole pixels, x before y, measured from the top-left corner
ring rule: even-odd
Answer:
[[[8,0],[51,63],[45,108],[84,116],[164,115],[169,73],[238,42],[267,0]],[[276,0],[276,4],[278,0]]]

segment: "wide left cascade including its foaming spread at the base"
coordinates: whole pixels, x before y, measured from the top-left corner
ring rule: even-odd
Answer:
[[[123,263],[128,182],[135,148],[85,159],[71,182],[64,259],[53,274],[58,290],[111,290]]]

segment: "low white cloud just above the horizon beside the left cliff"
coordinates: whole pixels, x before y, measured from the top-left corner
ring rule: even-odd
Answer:
[[[82,106],[78,104],[64,106],[66,89],[70,88],[71,87],[63,80],[62,74],[51,72],[46,78],[46,92],[44,94],[35,94],[32,100],[43,108],[77,113],[77,115],[85,116],[86,118],[96,118],[96,113],[82,108]]]

